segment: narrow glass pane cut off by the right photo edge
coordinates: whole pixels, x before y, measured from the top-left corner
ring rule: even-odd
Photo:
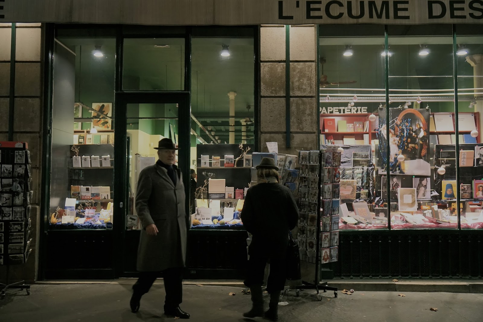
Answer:
[[[463,141],[459,142],[463,229],[483,228],[482,210],[479,209],[483,199],[483,144],[480,133],[483,116],[483,32],[469,27],[456,28],[458,134],[463,135]]]

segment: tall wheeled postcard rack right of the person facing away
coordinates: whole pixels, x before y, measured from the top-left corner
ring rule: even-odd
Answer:
[[[337,262],[339,245],[340,166],[338,146],[324,151],[299,152],[299,210],[297,240],[304,284],[297,289],[334,291],[337,288],[320,282],[322,265]],[[325,193],[324,186],[330,185]],[[312,279],[314,278],[314,279]]]

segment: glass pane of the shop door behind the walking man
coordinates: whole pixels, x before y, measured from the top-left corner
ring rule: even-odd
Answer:
[[[128,138],[128,212],[126,229],[142,229],[136,216],[136,191],[139,173],[158,160],[159,140],[167,137],[178,142],[178,104],[176,103],[130,103],[127,104]],[[178,163],[178,151],[176,161]]]

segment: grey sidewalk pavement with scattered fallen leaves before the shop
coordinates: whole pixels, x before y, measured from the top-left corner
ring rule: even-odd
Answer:
[[[0,321],[42,322],[134,322],[172,321],[163,315],[164,288],[156,282],[141,300],[136,314],[129,309],[129,283],[104,284],[36,284],[30,295],[9,290],[0,300]],[[244,319],[242,312],[250,309],[250,296],[241,293],[240,286],[184,286],[181,307],[191,314],[192,322],[249,322],[267,321],[261,318]],[[229,293],[236,293],[230,296]],[[322,293],[317,301],[315,291],[294,292],[284,296],[286,306],[279,306],[279,321],[290,322],[481,322],[483,294],[472,293],[404,293],[359,292],[346,295],[339,291]],[[268,301],[268,294],[264,294]],[[431,311],[430,308],[437,308]]]

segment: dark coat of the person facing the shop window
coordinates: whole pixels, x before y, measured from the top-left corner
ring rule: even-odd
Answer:
[[[288,231],[298,222],[292,192],[278,183],[259,183],[248,189],[241,210],[243,226],[253,234],[250,256],[284,257]]]

